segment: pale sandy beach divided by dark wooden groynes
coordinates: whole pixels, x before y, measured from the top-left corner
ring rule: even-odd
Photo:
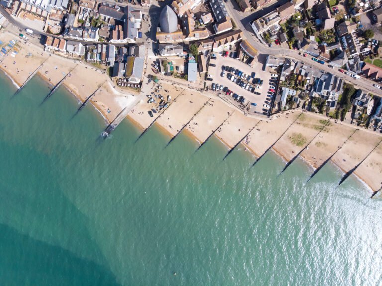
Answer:
[[[0,32],[0,39],[3,42],[16,38],[6,31]],[[190,121],[184,131],[199,143],[203,143],[224,122],[215,136],[227,148],[232,148],[255,127],[241,143],[253,155],[259,157],[290,126],[275,144],[275,152],[285,161],[289,161],[315,138],[301,156],[307,163],[317,168],[356,130],[354,126],[337,124],[331,120],[320,132],[328,118],[317,114],[301,114],[298,110],[277,114],[273,116],[273,120],[252,118],[228,106],[215,95],[204,96],[190,87],[183,89],[166,81],[160,82],[159,90],[156,90],[158,85],[150,84],[145,86],[147,94],[132,95],[129,90],[122,91],[115,87],[103,71],[92,65],[44,52],[42,47],[24,41],[20,41],[16,49],[18,53],[15,57],[8,55],[0,59],[0,68],[19,86],[44,63],[39,74],[51,85],[57,84],[65,75],[71,73],[63,84],[80,102],[84,102],[96,91],[90,103],[108,122],[112,122],[125,107],[129,107],[131,111],[127,117],[139,128],[144,130],[157,119],[156,124],[170,137],[175,136]],[[153,88],[149,90],[151,87]],[[157,95],[155,102],[148,103],[154,95]],[[170,102],[167,101],[168,95],[171,96]],[[160,102],[167,103],[168,107],[160,109]],[[153,117],[149,116],[149,111]],[[293,123],[300,114],[301,116]],[[347,172],[359,164],[381,138],[380,134],[361,129],[355,132],[336,153],[332,162]],[[381,159],[382,144],[355,171],[355,174],[373,191],[381,188]]]

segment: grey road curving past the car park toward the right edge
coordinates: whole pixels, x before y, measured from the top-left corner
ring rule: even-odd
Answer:
[[[230,16],[235,21],[238,28],[240,28],[243,31],[244,36],[247,38],[249,43],[258,50],[259,54],[266,54],[266,55],[274,55],[274,56],[283,56],[288,57],[291,59],[298,60],[300,62],[304,62],[305,64],[315,67],[319,70],[324,70],[325,72],[331,73],[333,75],[336,75],[345,81],[353,84],[356,88],[361,88],[365,91],[368,91],[372,93],[373,95],[378,95],[382,97],[382,90],[373,87],[373,84],[375,82],[368,80],[366,78],[361,79],[354,79],[351,76],[345,75],[344,73],[341,73],[338,71],[338,69],[332,69],[329,68],[327,65],[321,65],[311,59],[311,57],[303,57],[302,55],[298,54],[298,51],[296,50],[290,50],[290,49],[283,49],[280,47],[267,47],[260,43],[260,41],[256,38],[255,34],[252,31],[251,22],[254,19],[257,19],[261,16],[264,16],[265,14],[269,13],[270,11],[275,10],[280,4],[286,2],[285,0],[275,3],[269,7],[266,7],[264,9],[261,9],[253,14],[251,14],[248,17],[243,18],[243,13],[240,11],[240,8],[238,4],[235,1],[227,1],[226,7],[230,14]]]

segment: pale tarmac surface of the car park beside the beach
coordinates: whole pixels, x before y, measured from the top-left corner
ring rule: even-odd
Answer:
[[[216,65],[216,67],[211,66],[211,64]],[[241,72],[245,73],[247,76],[251,76],[251,74],[255,73],[255,78],[260,78],[263,81],[263,85],[259,88],[255,89],[255,92],[260,93],[260,95],[256,95],[255,93],[252,93],[246,89],[243,89],[239,85],[237,85],[232,80],[229,80],[227,78],[227,75],[229,72],[224,72],[224,77],[222,77],[222,66],[229,66],[233,67],[235,69],[239,69]],[[216,60],[211,60],[210,66],[208,69],[208,74],[210,74],[213,78],[213,81],[208,81],[208,85],[211,88],[212,83],[223,85],[224,87],[228,87],[229,90],[233,91],[234,93],[238,94],[239,96],[243,96],[246,99],[245,104],[255,103],[257,104],[256,107],[252,106],[252,110],[255,109],[257,112],[265,111],[263,110],[265,107],[264,104],[268,103],[270,104],[270,97],[269,94],[269,88],[270,88],[270,80],[271,80],[271,73],[263,71],[262,70],[262,64],[259,62],[255,62],[254,66],[251,68],[247,64],[230,58],[230,57],[223,57],[220,54],[217,54]],[[232,74],[232,73],[230,73]],[[240,78],[237,75],[234,75],[237,79]],[[252,87],[255,86],[253,84],[253,78],[251,77],[249,81],[247,81],[244,78],[240,78],[241,81],[244,81],[245,84],[248,83],[248,85],[251,85]],[[274,84],[272,84],[274,86]],[[223,93],[223,91],[220,91]],[[268,100],[267,100],[268,99]]]

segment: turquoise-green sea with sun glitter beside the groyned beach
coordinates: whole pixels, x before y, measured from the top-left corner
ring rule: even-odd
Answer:
[[[382,200],[355,176],[105,122],[0,74],[0,285],[382,285]]]

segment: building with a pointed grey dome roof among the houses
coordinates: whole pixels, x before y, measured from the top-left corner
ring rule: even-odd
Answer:
[[[159,15],[157,40],[160,43],[172,43],[182,41],[184,38],[182,30],[178,25],[177,14],[170,6],[165,6]]]

